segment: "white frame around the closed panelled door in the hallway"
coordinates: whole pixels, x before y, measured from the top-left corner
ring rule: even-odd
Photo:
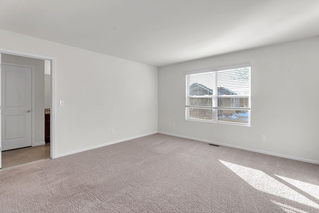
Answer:
[[[12,55],[12,54],[11,54]],[[0,59],[2,60],[2,59]],[[29,65],[24,65],[24,64],[15,64],[15,63],[8,63],[8,62],[2,62],[1,61],[1,66],[2,65],[8,65],[8,66],[15,66],[15,67],[26,67],[26,68],[31,68],[31,146],[35,146],[35,145],[43,145],[45,144],[45,142],[39,142],[39,143],[35,143],[35,67],[34,66],[29,66]],[[1,83],[0,83],[1,85]],[[1,88],[0,88],[0,93],[1,93]],[[0,102],[1,103],[1,102]],[[1,103],[2,104],[2,103]],[[0,118],[0,122],[1,122],[2,116]],[[1,132],[1,129],[0,129]],[[2,134],[2,132],[1,132]],[[0,136],[1,136],[0,134]],[[1,137],[2,139],[2,137]],[[2,141],[1,141],[2,143]],[[51,144],[50,144],[51,145]],[[2,144],[1,144],[2,147]],[[1,148],[2,150],[2,148]]]

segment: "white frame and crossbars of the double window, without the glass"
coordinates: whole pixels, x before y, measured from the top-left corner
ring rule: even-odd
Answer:
[[[213,69],[207,69],[207,70],[198,70],[198,71],[191,71],[191,72],[184,72],[185,75],[185,119],[186,120],[193,120],[193,121],[202,121],[202,122],[213,122],[213,123],[225,123],[225,124],[233,124],[233,125],[242,125],[242,126],[250,126],[251,121],[251,72],[250,72],[250,78],[249,78],[249,95],[240,96],[240,95],[227,95],[227,98],[247,98],[249,100],[249,107],[218,107],[218,98],[223,97],[225,98],[225,95],[218,95],[213,94],[211,96],[205,95],[205,96],[190,96],[189,95],[189,75],[194,74],[204,74],[204,73],[213,73],[214,75],[214,88],[213,91],[217,91],[217,72],[218,71],[225,71],[225,70],[234,70],[234,69],[240,69],[250,67],[251,64],[241,64],[241,65],[235,65],[235,66],[228,66],[228,67],[220,67],[220,68],[213,68]],[[189,106],[187,103],[189,103],[189,98],[212,98],[212,106],[206,107],[206,106]],[[198,118],[190,118],[189,117],[189,108],[204,108],[204,109],[212,109],[212,120],[206,120],[206,119],[198,119]],[[230,121],[221,121],[218,120],[218,110],[246,110],[248,111],[248,123],[237,123],[237,122],[230,122]]]

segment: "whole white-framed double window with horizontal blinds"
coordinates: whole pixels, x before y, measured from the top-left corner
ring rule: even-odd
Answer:
[[[185,75],[186,119],[250,125],[250,64]]]

